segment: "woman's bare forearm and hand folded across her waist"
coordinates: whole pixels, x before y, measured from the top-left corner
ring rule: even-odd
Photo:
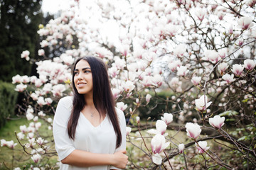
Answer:
[[[70,164],[74,166],[99,166],[112,165],[119,169],[124,169],[128,157],[126,150],[115,152],[114,154],[94,154],[75,149],[68,157],[65,157],[61,162],[63,164]]]

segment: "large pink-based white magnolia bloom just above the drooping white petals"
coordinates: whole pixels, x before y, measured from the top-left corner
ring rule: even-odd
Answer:
[[[165,137],[160,134],[156,134],[151,140],[151,149],[154,154],[159,154],[169,145],[170,142],[166,142]]]

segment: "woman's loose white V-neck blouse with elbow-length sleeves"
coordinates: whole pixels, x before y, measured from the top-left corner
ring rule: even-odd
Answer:
[[[55,140],[55,149],[58,153],[60,161],[67,157],[75,149],[84,150],[92,153],[101,154],[114,154],[122,149],[126,149],[126,123],[124,113],[116,108],[117,116],[119,118],[120,130],[122,133],[122,144],[117,149],[116,135],[114,128],[108,116],[98,125],[94,127],[85,116],[80,113],[78,125],[75,130],[75,140],[68,137],[68,120],[72,109],[73,97],[67,96],[61,98],[55,111],[53,120],[53,137]],[[73,169],[73,170],[108,170],[117,169],[114,166],[90,166],[78,167],[60,162],[60,169]]]

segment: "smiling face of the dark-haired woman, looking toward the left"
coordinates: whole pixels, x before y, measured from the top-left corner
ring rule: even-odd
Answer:
[[[92,84],[92,72],[90,65],[85,60],[80,60],[75,65],[74,70],[74,83],[75,88],[78,90],[79,94],[92,94],[93,84]]]

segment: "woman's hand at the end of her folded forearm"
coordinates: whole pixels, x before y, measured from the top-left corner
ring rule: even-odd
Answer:
[[[113,154],[114,157],[112,166],[115,166],[119,169],[124,169],[128,163],[128,157],[127,155],[125,155],[126,153],[126,150],[120,150],[118,152],[115,152]]]

